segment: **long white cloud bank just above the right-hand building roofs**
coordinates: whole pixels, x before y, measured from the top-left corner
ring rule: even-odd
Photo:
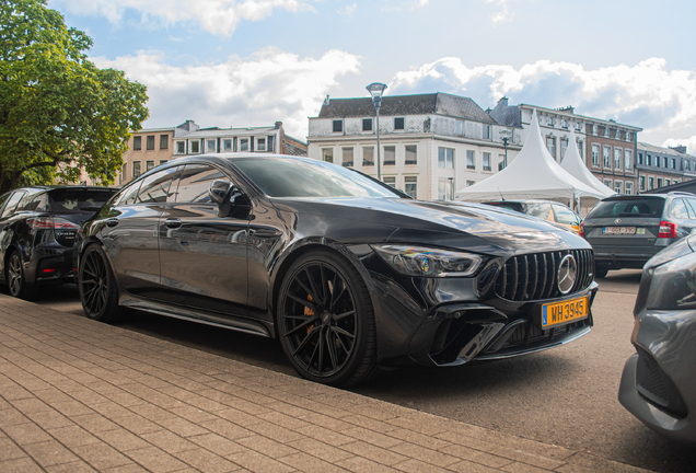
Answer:
[[[660,58],[633,67],[585,70],[581,65],[547,60],[520,69],[498,65],[468,68],[450,57],[396,73],[388,90],[393,94],[457,93],[484,108],[508,95],[512,103],[573,105],[579,114],[615,118],[664,138],[696,134],[696,72],[668,70]]]

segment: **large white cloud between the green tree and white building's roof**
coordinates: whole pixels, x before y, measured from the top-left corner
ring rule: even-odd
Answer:
[[[283,122],[289,135],[305,139],[308,117],[318,114],[337,79],[360,70],[360,57],[329,50],[300,58],[266,49],[223,64],[174,67],[160,53],[140,51],[115,60],[92,58],[100,68],[124,70],[148,86],[146,127],[175,126],[195,119],[201,126],[247,127]]]

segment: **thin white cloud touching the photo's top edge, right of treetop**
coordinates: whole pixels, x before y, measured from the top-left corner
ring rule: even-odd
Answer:
[[[232,35],[240,21],[263,20],[275,9],[314,11],[303,0],[51,0],[50,4],[74,14],[104,16],[116,25],[130,10],[140,15],[142,24],[172,26],[195,22],[211,34],[224,36]]]

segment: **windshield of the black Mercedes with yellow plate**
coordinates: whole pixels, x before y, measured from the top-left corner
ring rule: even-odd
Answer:
[[[234,164],[271,197],[407,198],[360,173],[323,161],[250,158]]]

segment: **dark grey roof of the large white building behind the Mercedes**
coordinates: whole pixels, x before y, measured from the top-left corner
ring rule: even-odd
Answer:
[[[417,95],[386,95],[382,97],[380,115],[428,115],[437,114],[464,118],[473,122],[496,124],[476,102],[469,97],[442,92]],[[330,99],[322,104],[320,118],[374,116],[374,105],[370,97]]]

